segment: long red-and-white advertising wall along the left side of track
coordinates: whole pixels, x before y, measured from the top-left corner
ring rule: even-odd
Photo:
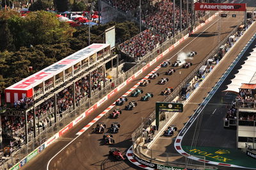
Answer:
[[[141,73],[145,72],[145,70],[147,70],[147,68],[149,68],[150,66],[154,65],[160,59],[162,59],[165,54],[167,54],[168,52],[172,51],[180,43],[184,42],[184,40],[186,40],[189,37],[189,35],[191,35],[195,31],[200,29],[202,26],[204,26],[205,24],[210,22],[212,19],[214,19],[215,16],[216,15],[212,15],[211,17],[209,17],[209,19],[205,20],[205,23],[202,23],[199,26],[195,27],[195,29],[193,29],[191,32],[189,32],[187,35],[185,35],[179,41],[174,43],[171,47],[166,48],[166,50],[164,50],[164,52],[162,54],[156,56],[156,58],[153,59],[152,57],[151,58],[149,57],[149,58],[146,58],[143,61],[141,61],[141,63],[139,63],[138,66],[136,65],[137,68],[141,68],[142,67],[142,63],[144,63],[144,61],[145,61],[145,63],[148,63],[148,64],[143,66],[140,70],[138,70],[138,72],[135,72],[133,75],[131,75],[131,77],[126,79],[126,81],[122,82],[119,86],[117,86],[110,93],[108,93],[108,95],[106,95],[105,97],[100,99],[99,102],[96,102],[94,105],[92,105],[92,107],[87,109],[80,116],[78,116],[75,120],[73,120],[71,123],[69,123],[64,128],[62,128],[58,133],[54,134],[52,137],[47,139],[47,141],[45,141],[45,143],[43,143],[42,145],[38,146],[35,150],[33,150],[31,152],[31,153],[34,153],[33,157],[35,157],[36,155],[38,155],[38,153],[40,153],[42,150],[47,148],[47,146],[49,146],[50,144],[54,143],[54,141],[56,141],[56,139],[61,137],[61,135],[65,134],[70,128],[74,127],[74,125],[76,125],[79,121],[83,120],[83,118],[85,118],[86,116],[91,114],[95,109],[97,109],[100,105],[102,105],[104,102],[106,102],[106,100],[109,100],[111,97],[116,95],[116,93],[118,91],[120,91],[120,89],[124,88],[127,84],[129,84],[129,82],[131,82],[134,79],[136,79]],[[188,30],[184,30],[184,31],[188,31]],[[179,36],[181,36],[181,35],[182,35],[182,33],[179,34]],[[40,152],[38,152],[39,149],[40,149]],[[36,150],[37,150],[37,153],[35,153]],[[31,153],[29,153],[29,155],[31,155]],[[26,164],[28,162],[27,160],[31,160],[31,158],[33,158],[31,156],[29,157],[29,155],[27,157],[23,158],[17,164],[15,164],[15,166],[13,166],[11,169],[12,170],[13,169],[20,169],[20,167],[24,166],[24,164]]]

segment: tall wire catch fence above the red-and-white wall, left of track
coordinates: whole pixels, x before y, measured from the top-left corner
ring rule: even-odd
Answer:
[[[210,13],[209,15],[205,16],[205,19],[211,17],[213,13]],[[33,137],[33,134],[30,134],[29,142],[28,144],[24,144],[22,146],[19,146],[19,148],[14,148],[15,151],[13,151],[10,155],[10,157],[3,158],[0,162],[0,169],[8,169],[12,167],[14,164],[22,160],[22,158],[26,157],[29,153],[34,151],[36,148],[38,148],[41,144],[43,144],[47,139],[51,138],[52,135],[59,132],[62,128],[66,127],[68,123],[75,120],[78,116],[80,116],[84,111],[89,109],[93,104],[98,102],[102,97],[105,97],[111,90],[122,84],[124,81],[129,79],[134,73],[138,72],[143,66],[147,65],[150,61],[152,61],[154,58],[159,56],[164,50],[168,49],[171,45],[177,42],[177,40],[181,39],[185,35],[187,35],[191,30],[195,29],[196,26],[198,26],[199,23],[196,22],[195,26],[191,26],[181,33],[178,33],[174,36],[171,40],[167,40],[162,45],[157,47],[157,49],[153,50],[146,56],[144,56],[138,64],[134,65],[131,69],[129,69],[127,72],[122,73],[118,78],[114,79],[111,83],[109,83],[105,88],[102,88],[100,91],[92,91],[92,97],[91,98],[83,98],[79,101],[78,106],[76,109],[73,107],[70,107],[65,112],[62,112],[61,114],[58,114],[58,121],[56,123],[51,123],[51,126],[45,127],[45,130],[41,130],[38,136]],[[154,114],[151,114],[149,117],[151,120],[154,120]],[[148,119],[148,120],[150,120]],[[152,122],[149,122],[152,123]]]

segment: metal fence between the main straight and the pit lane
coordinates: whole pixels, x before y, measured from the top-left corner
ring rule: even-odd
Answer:
[[[201,66],[205,65],[207,63],[208,59],[213,58],[214,55],[218,53],[218,50],[220,49],[221,45],[224,45],[228,41],[228,38],[231,35],[234,35],[234,33],[236,33],[239,26],[240,26],[240,24],[238,24],[227,36],[225,36],[225,38],[208,54],[208,56],[206,56],[206,58],[204,58],[204,60],[198,66],[196,66],[195,70],[193,70],[191,73],[189,73],[189,75],[179,84],[179,86],[177,86],[177,88],[174,89],[172,94],[170,96],[164,98],[163,102],[172,102],[175,99],[175,97],[179,96],[179,93],[180,93],[182,87],[184,87],[186,84],[191,82],[191,80],[196,75],[198,75],[199,68],[201,68]],[[158,155],[161,155],[161,154],[162,155],[166,155],[166,154],[172,155],[173,153],[165,153],[163,151],[161,153],[159,153],[159,151],[150,150],[149,148],[147,148],[147,146],[150,143],[150,141],[152,141],[156,137],[156,135],[159,134],[159,132],[161,132],[163,127],[166,125],[166,123],[168,123],[173,118],[175,113],[174,112],[166,112],[166,117],[164,118],[164,120],[159,122],[159,128],[154,131],[154,134],[151,134],[150,137],[148,137],[148,136],[145,137],[145,133],[143,133],[143,130],[145,128],[150,127],[150,125],[152,125],[152,123],[156,120],[155,115],[156,115],[156,112],[154,111],[148,116],[148,118],[142,118],[141,125],[138,128],[136,128],[136,130],[134,130],[134,132],[132,134],[132,146],[133,146],[133,150],[135,151],[135,153],[138,156],[149,157],[150,160],[157,161],[156,159],[154,159],[154,158],[156,158],[156,157],[154,157],[154,156],[156,156],[155,153]],[[148,155],[150,155],[150,156],[148,156]],[[166,162],[170,162],[170,160],[168,160],[168,157],[163,157],[163,159]]]

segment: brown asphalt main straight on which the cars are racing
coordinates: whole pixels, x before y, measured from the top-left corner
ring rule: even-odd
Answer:
[[[221,40],[230,33],[234,27],[238,24],[238,20],[241,19],[242,16],[238,16],[237,18],[227,17],[226,19],[222,19],[221,22]],[[131,134],[140,125],[141,118],[146,118],[152,111],[154,111],[154,104],[157,101],[162,101],[163,96],[159,95],[161,91],[166,87],[177,87],[189,73],[195,69],[196,65],[202,61],[202,59],[211,52],[214,47],[218,44],[218,27],[216,24],[216,17],[214,20],[206,24],[204,27],[199,29],[194,35],[191,35],[187,40],[183,43],[180,43],[177,47],[175,47],[172,52],[169,52],[164,57],[164,60],[169,59],[173,56],[172,61],[175,61],[177,58],[177,53],[180,51],[189,52],[191,50],[195,50],[198,52],[196,57],[193,59],[191,66],[188,69],[180,68],[178,72],[174,73],[170,76],[163,76],[164,72],[168,70],[168,68],[160,68],[157,73],[160,73],[160,76],[157,79],[153,80],[148,86],[143,87],[142,89],[145,91],[144,93],[154,93],[154,98],[151,98],[149,102],[140,102],[138,101],[138,106],[135,107],[133,111],[123,111],[120,118],[117,120],[111,120],[109,118],[102,118],[100,121],[104,121],[107,124],[107,127],[110,127],[113,121],[118,121],[121,124],[120,132],[118,134],[114,134],[113,137],[116,141],[116,144],[112,145],[113,148],[120,148],[122,151],[127,150],[132,144]],[[202,33],[202,34],[201,34]],[[198,37],[197,37],[198,36]],[[102,104],[95,112],[93,112],[86,119],[78,123],[76,127],[72,128],[67,132],[67,134],[60,137],[54,144],[47,147],[40,155],[28,164],[26,164],[23,169],[46,169],[47,163],[49,160],[60,151],[63,147],[65,147],[72,139],[76,137],[76,133],[90,123],[100,112],[104,111],[109,105],[111,105],[117,98],[121,97],[128,89],[130,89],[136,82],[140,81],[145,75],[147,75],[151,70],[153,70],[157,65],[159,65],[161,61],[157,62],[151,68],[141,75],[138,80],[131,82],[128,84],[122,91],[116,95],[113,100],[109,100],[106,103]],[[182,72],[181,76],[179,75],[179,71]],[[157,85],[157,81],[162,77],[168,77],[170,81],[161,86]],[[141,96],[140,96],[141,97]],[[131,100],[140,100],[140,97],[132,98],[129,97],[128,102]],[[127,103],[128,103],[127,102]],[[127,104],[125,103],[125,104]],[[121,107],[122,109],[124,108]],[[111,112],[111,111],[110,111]],[[107,114],[108,115],[108,114]],[[100,145],[102,141],[102,134],[92,134],[92,128],[89,128],[86,132],[80,135],[76,141],[70,144],[65,150],[61,151],[60,154],[56,155],[56,157],[51,161],[49,165],[49,169],[138,169],[138,167],[133,164],[127,162],[119,162],[115,161],[112,158],[108,157],[109,146]]]

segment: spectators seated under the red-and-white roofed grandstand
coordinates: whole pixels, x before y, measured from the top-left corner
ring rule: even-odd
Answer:
[[[95,70],[91,73],[91,89],[93,91],[99,91],[102,87],[103,75],[99,70]],[[75,95],[76,105],[79,105],[79,101],[82,98],[89,97],[90,83],[89,75],[86,75],[79,81],[75,82]],[[74,93],[73,86],[68,86],[59,93],[57,93],[57,113],[61,114],[67,111],[74,105]],[[34,104],[33,98],[24,97],[21,100],[14,103],[15,109],[26,110]],[[54,97],[48,98],[42,104],[35,107],[35,120],[36,127],[45,127],[51,122],[52,113],[54,112]],[[33,133],[33,110],[28,112],[28,132]],[[24,128],[25,117],[24,116],[1,116],[1,123],[3,128],[3,134],[7,138],[15,139],[15,141],[24,141]]]

